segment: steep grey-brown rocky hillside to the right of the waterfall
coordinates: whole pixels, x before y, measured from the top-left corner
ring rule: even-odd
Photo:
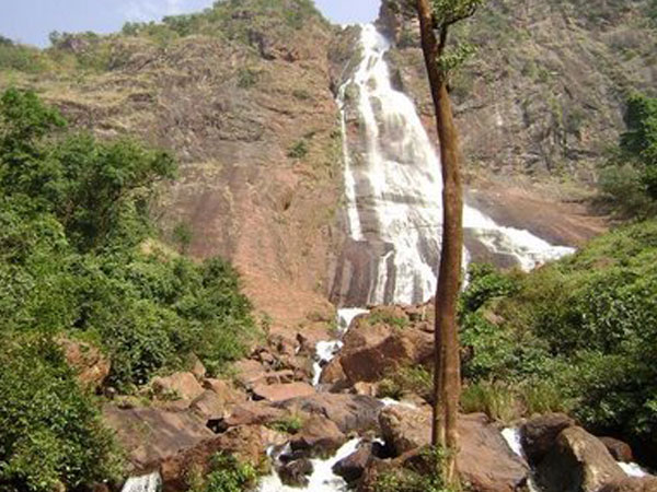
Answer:
[[[384,2],[379,20],[397,42],[393,78],[433,127],[417,25],[395,4]],[[627,96],[655,91],[652,5],[493,0],[454,30],[456,43],[476,47],[451,83],[471,202],[552,241],[578,244],[603,229],[573,201],[586,198],[624,129]],[[546,225],[564,214],[562,230]]]

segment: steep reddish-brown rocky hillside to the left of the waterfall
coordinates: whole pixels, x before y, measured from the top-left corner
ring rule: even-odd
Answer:
[[[108,37],[56,36],[0,86],[34,87],[101,137],[172,150],[182,171],[161,192],[165,234],[188,224],[194,256],[232,260],[256,307],[296,324],[328,308],[342,192],[332,33],[306,0],[218,2]]]

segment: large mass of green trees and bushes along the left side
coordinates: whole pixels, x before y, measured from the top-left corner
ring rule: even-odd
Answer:
[[[254,335],[235,271],[145,242],[166,153],[66,130],[31,92],[0,97],[0,488],[53,491],[107,478],[112,442],[54,340],[82,339],[123,391],[182,367],[210,371]],[[45,450],[45,452],[44,452]]]

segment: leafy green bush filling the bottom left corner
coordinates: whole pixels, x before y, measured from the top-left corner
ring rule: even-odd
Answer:
[[[0,489],[51,492],[117,473],[111,434],[50,340],[4,337],[0,395]]]

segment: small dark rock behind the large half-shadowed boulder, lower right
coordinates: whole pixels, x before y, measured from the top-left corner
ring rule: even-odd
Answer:
[[[520,427],[520,442],[531,465],[539,464],[564,429],[575,425],[565,413],[549,413],[530,419]]]

